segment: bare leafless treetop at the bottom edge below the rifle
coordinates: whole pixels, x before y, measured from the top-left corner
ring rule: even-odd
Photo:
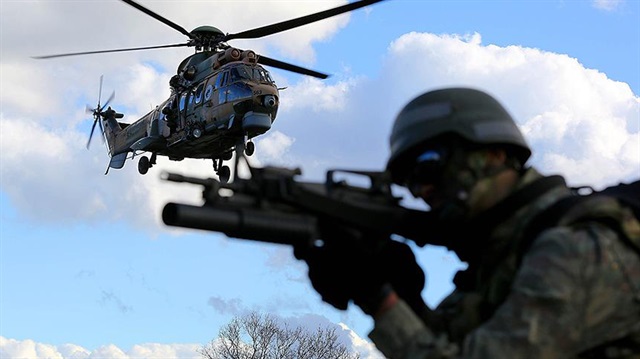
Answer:
[[[205,359],[359,359],[340,344],[336,328],[290,328],[270,315],[235,317],[218,338],[203,345]]]

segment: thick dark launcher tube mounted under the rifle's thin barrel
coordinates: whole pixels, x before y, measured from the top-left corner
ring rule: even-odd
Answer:
[[[229,237],[269,243],[296,245],[311,243],[318,237],[314,217],[251,208],[168,203],[162,210],[162,220],[169,226],[222,232]]]

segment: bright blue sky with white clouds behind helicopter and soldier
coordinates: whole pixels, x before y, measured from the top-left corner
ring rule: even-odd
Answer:
[[[152,1],[186,29],[243,30],[346,1]],[[640,177],[640,1],[388,0],[349,15],[231,41],[331,74],[269,68],[281,107],[256,139],[254,165],[380,170],[396,114],[429,90],[465,86],[495,96],[534,155],[529,165],[571,185]],[[104,171],[85,148],[99,79],[133,122],[169,96],[190,48],[35,60],[64,52],[180,43],[179,32],[116,0],[0,0],[0,357],[197,358],[234,316],[337,326],[363,358],[373,322],[322,303],[290,248],[166,227],[165,203],[199,204],[200,189],[162,171],[214,176],[211,161],[137,159]],[[425,229],[428,230],[428,229]],[[437,305],[464,264],[415,247]]]

